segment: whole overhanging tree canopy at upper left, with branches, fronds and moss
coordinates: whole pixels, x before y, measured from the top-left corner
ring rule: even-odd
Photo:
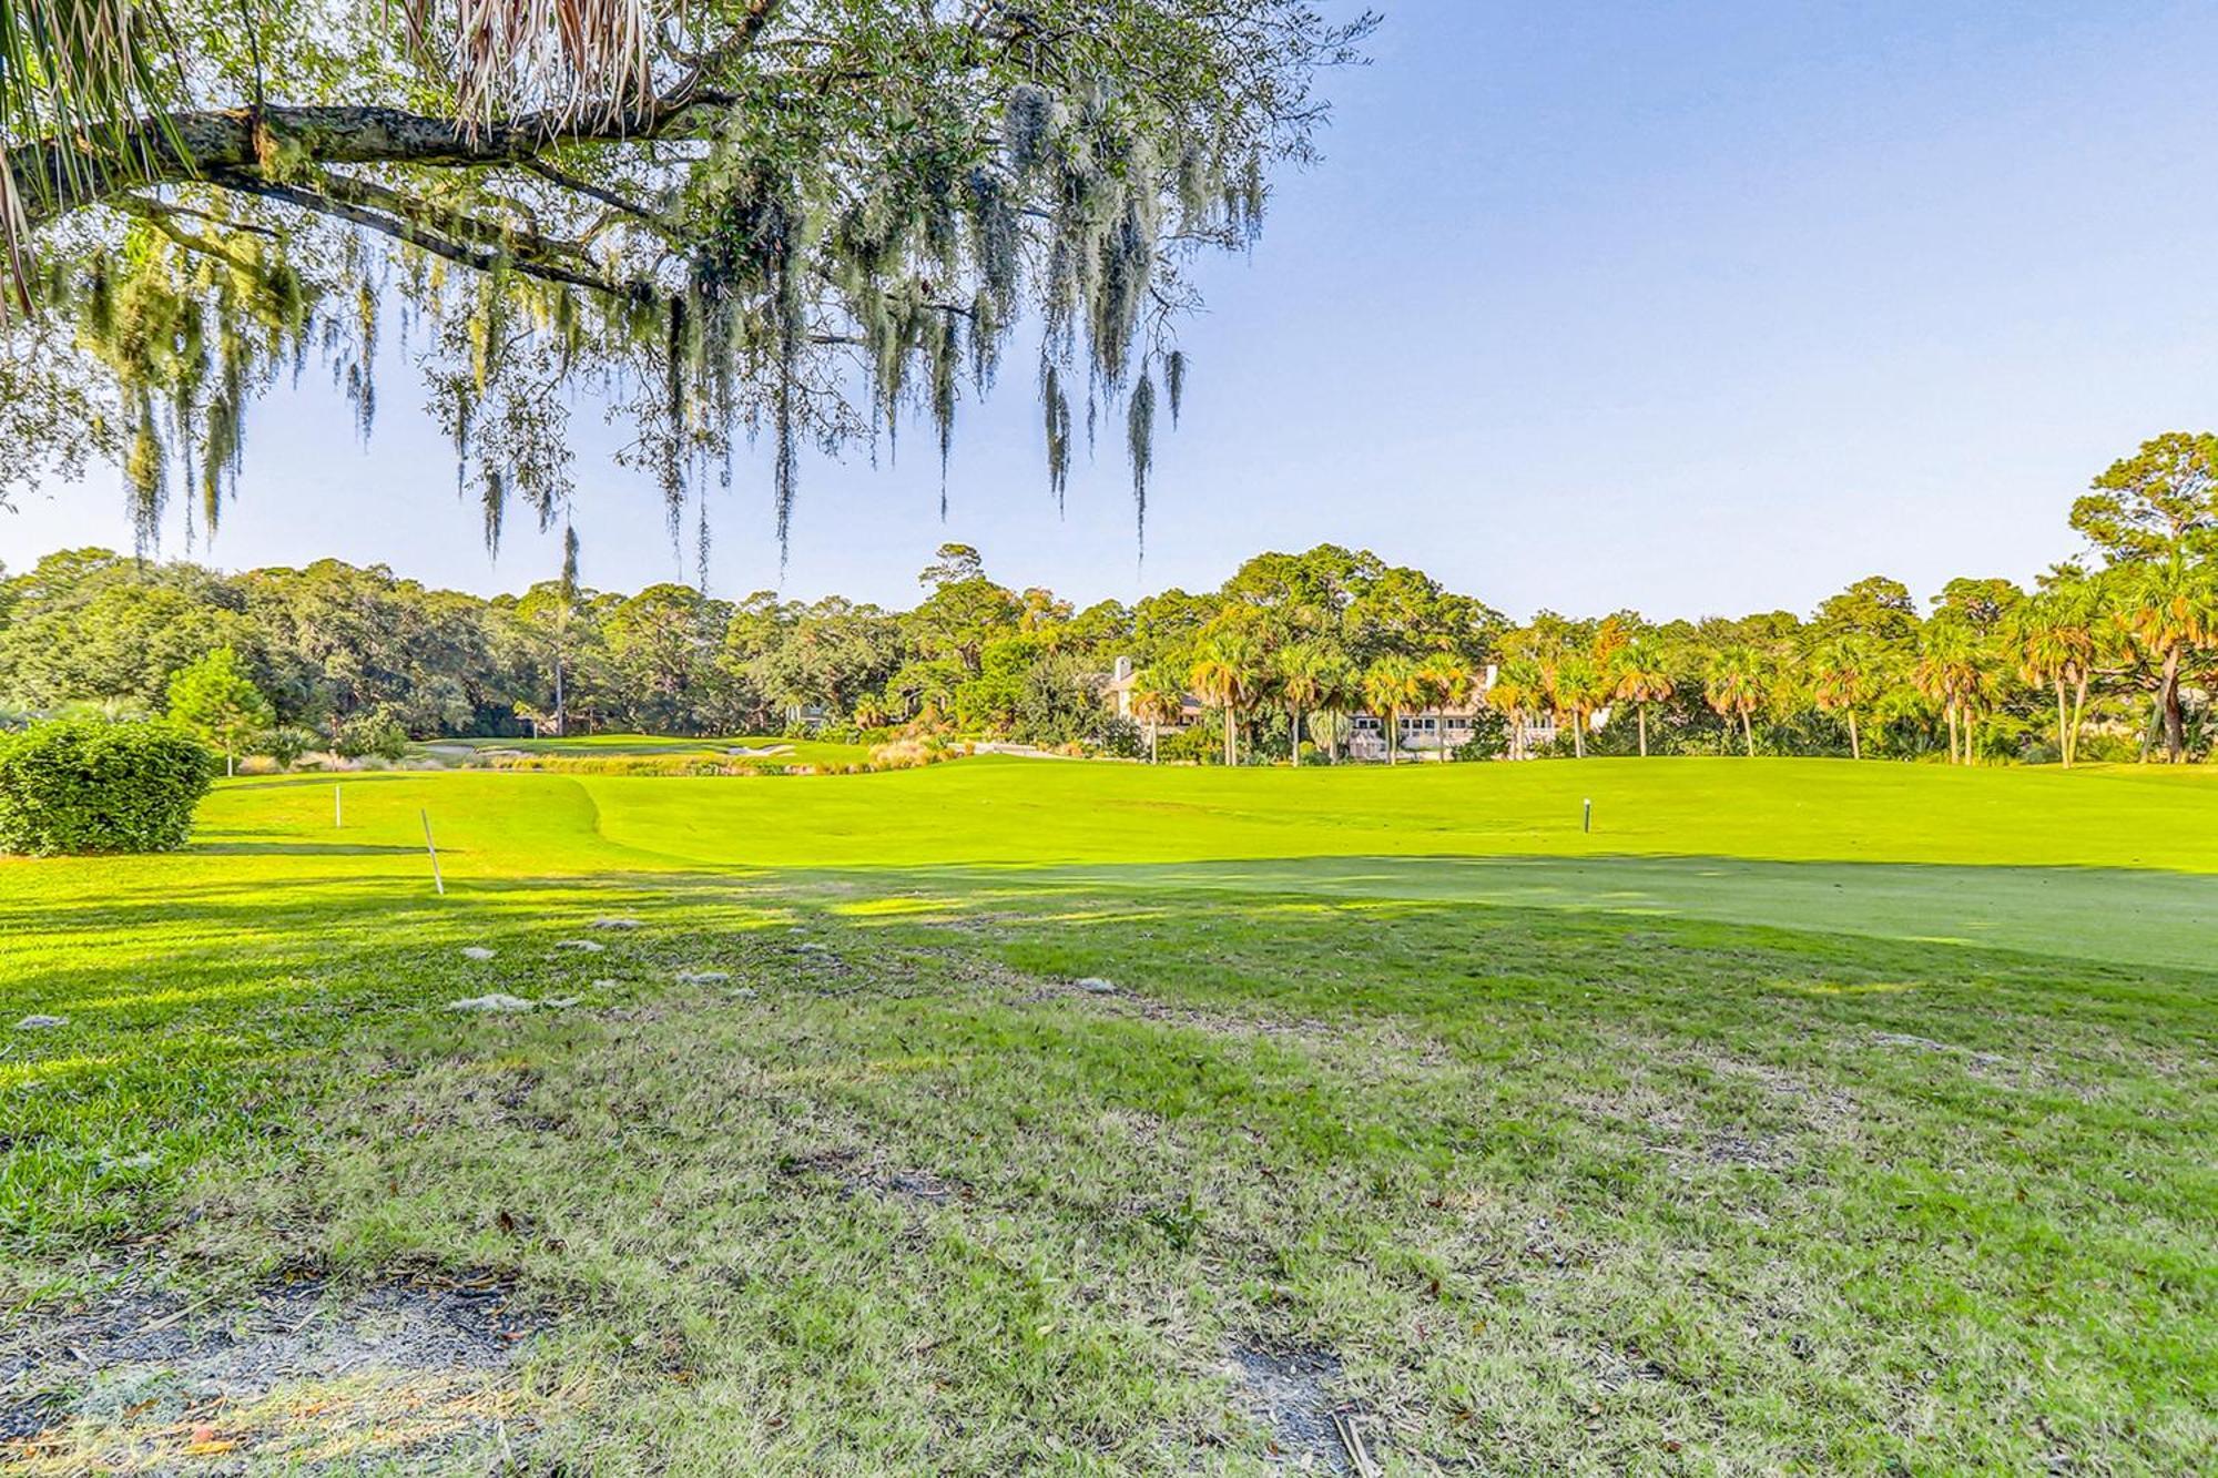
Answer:
[[[1178,417],[1184,264],[1311,158],[1371,29],[1309,0],[0,4],[0,502],[122,466],[208,526],[246,408],[319,362],[362,435],[399,306],[486,539],[568,513],[566,382],[688,497],[761,435],[892,442],[1038,324],[1047,484]],[[945,493],[943,493],[945,499]],[[705,541],[705,517],[701,524]]]

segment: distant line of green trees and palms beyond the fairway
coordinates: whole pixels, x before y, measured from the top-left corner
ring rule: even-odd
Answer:
[[[1000,584],[976,548],[947,544],[907,610],[681,584],[592,590],[574,559],[486,599],[337,559],[226,575],[64,550],[0,579],[0,719],[164,712],[182,677],[202,708],[211,690],[251,688],[226,699],[226,723],[277,735],[266,752],[805,723],[1300,763],[1340,759],[1357,712],[1380,717],[1388,757],[1426,712],[1473,715],[1451,757],[1524,757],[1550,732],[1546,750],[1568,755],[2205,752],[2218,437],[2143,444],[2092,482],[2069,524],[2087,555],[2032,586],[1958,577],[1921,604],[1874,575],[1810,615],[1692,621],[1544,610],[1517,624],[1333,544],[1255,555],[1209,593],[1085,608]],[[1105,701],[1118,659],[1136,666],[1125,717]],[[1182,723],[1196,703],[1209,723]]]

